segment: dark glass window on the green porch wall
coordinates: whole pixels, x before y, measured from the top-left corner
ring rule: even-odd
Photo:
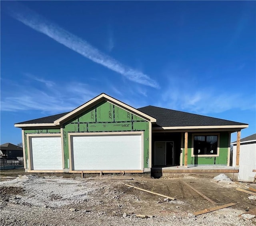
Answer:
[[[217,135],[195,135],[194,155],[216,155],[218,154]]]

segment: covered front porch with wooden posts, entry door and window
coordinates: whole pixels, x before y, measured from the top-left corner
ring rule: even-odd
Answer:
[[[152,132],[152,171],[170,173],[238,173],[230,161],[230,135],[234,130],[154,130]],[[230,167],[231,166],[231,167]],[[164,170],[164,171],[163,171]]]

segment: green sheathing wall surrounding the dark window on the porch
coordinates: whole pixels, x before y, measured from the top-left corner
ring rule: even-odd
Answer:
[[[208,134],[208,133],[204,133]],[[228,163],[228,132],[220,132],[220,152],[219,156],[192,157],[192,134],[188,133],[188,165],[227,165]],[[209,133],[210,135],[210,133]],[[184,148],[183,148],[183,164],[184,164]]]

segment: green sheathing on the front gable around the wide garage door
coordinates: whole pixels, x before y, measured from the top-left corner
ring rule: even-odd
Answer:
[[[69,168],[68,133],[144,131],[144,168],[149,166],[148,121],[109,102],[101,102],[64,123],[63,144],[65,168]]]

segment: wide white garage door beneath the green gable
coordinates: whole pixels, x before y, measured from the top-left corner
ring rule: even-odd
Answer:
[[[142,135],[72,136],[73,170],[142,170]]]

